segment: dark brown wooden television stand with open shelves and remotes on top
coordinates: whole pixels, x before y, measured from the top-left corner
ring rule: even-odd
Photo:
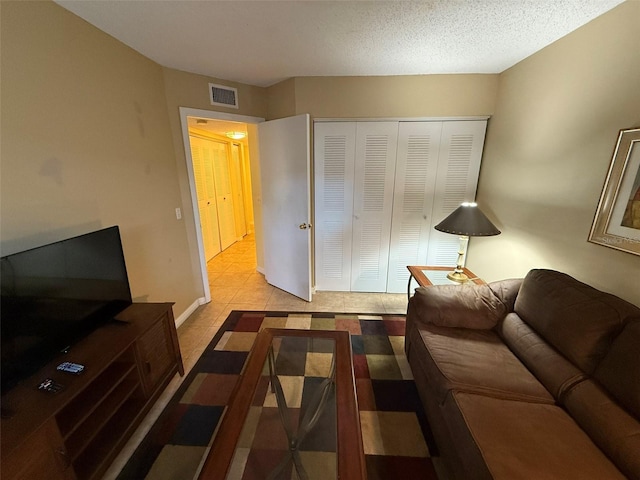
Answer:
[[[2,397],[3,480],[97,479],[176,372],[171,303],[134,303]],[[85,366],[59,372],[62,362]],[[45,378],[63,385],[38,390]]]

